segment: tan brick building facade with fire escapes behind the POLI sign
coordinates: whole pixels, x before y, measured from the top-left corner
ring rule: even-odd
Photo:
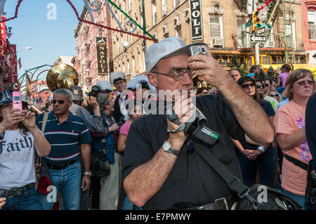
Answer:
[[[248,66],[255,63],[252,26],[244,28],[244,24],[249,21],[247,1],[148,0],[145,1],[144,10],[141,0],[116,0],[114,3],[141,26],[145,11],[147,32],[158,41],[171,36],[181,37],[185,44],[203,41],[226,69],[233,58]],[[267,41],[261,43],[261,65],[282,65],[286,59],[289,63],[308,63],[303,42],[301,0],[285,1],[284,6],[279,4],[271,18],[271,29],[265,31]],[[289,13],[289,7],[293,14]],[[117,11],[117,18],[121,26],[133,30],[133,25],[128,23],[129,18],[123,13]],[[112,27],[119,27],[114,18],[111,22]],[[135,33],[143,34],[143,31],[138,27]],[[112,32],[114,71],[124,72],[128,79],[145,73],[145,48],[151,44],[154,41],[147,40],[144,44],[143,39]]]

